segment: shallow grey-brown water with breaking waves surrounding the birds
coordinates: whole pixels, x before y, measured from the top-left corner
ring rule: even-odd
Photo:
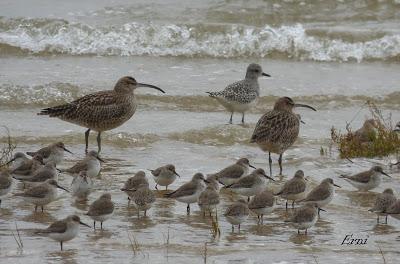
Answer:
[[[32,206],[8,196],[0,208],[1,262],[202,263],[207,243],[207,263],[383,263],[379,247],[387,263],[395,263],[400,258],[400,222],[389,218],[388,225],[377,225],[375,215],[367,211],[383,189],[400,193],[399,170],[387,166],[394,157],[354,159],[352,164],[340,160],[335,147],[327,156],[321,156],[320,149],[329,149],[332,125],[344,130],[354,117],[352,127],[362,124],[369,116],[366,100],[376,102],[385,116],[391,113],[393,121],[400,120],[399,4],[330,2],[32,1],[31,8],[21,8],[22,1],[2,1],[0,125],[10,129],[17,151],[62,140],[74,154],[66,155],[60,167],[70,166],[83,156],[84,129],[35,113],[111,89],[121,76],[132,75],[167,94],[137,91],[139,107],[133,118],[103,134],[102,158],[107,162],[88,204],[102,192],[111,192],[116,212],[105,222],[105,230],[81,228],[60,252],[57,243],[31,230],[71,213],[83,215],[88,205],[76,204],[60,191],[60,199],[45,213],[33,213]],[[304,15],[310,6],[318,12]],[[263,30],[274,30],[274,37],[255,37]],[[185,35],[187,31],[191,35]],[[138,32],[142,39],[134,38]],[[226,35],[229,42],[221,38]],[[86,42],[81,41],[84,36]],[[241,79],[250,62],[260,63],[273,77],[259,80],[262,97],[246,114],[247,124],[239,125],[240,116],[235,115],[235,124],[227,125],[229,114],[205,92]],[[210,220],[196,205],[187,216],[186,205],[161,198],[163,192],[147,217],[138,219],[135,209],[127,208],[126,195],[119,189],[138,170],[173,163],[182,175],[171,186],[176,189],[194,173],[215,172],[239,157],[266,168],[267,156],[249,138],[259,117],[280,96],[313,105],[318,112],[298,111],[306,124],[284,155],[285,177],[270,187],[278,189],[298,169],[312,185],[332,177],[342,186],[308,236],[297,235],[283,222],[288,216],[283,201],[263,226],[251,216],[240,233],[231,233],[222,213],[238,197],[226,192],[218,208],[218,239],[213,239]],[[3,135],[1,131],[0,142]],[[96,146],[94,135],[90,143]],[[277,157],[273,158],[276,173]],[[338,179],[341,173],[373,164],[383,165],[393,177],[384,178],[376,190],[357,193]],[[60,176],[63,186],[71,180]],[[16,184],[14,192],[20,190]],[[21,229],[22,251],[12,236],[15,223]],[[136,253],[128,232],[140,245]],[[368,243],[341,245],[347,234],[368,238]]]

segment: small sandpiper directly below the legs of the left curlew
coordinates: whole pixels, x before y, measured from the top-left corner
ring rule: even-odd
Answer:
[[[95,150],[89,151],[86,157],[83,160],[75,163],[71,168],[61,170],[61,172],[66,172],[71,175],[77,175],[81,171],[86,171],[86,176],[89,178],[96,177],[100,173],[101,163],[104,162],[102,158],[99,157],[99,154]]]

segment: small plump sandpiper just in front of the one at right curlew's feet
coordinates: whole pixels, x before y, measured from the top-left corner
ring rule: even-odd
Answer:
[[[264,215],[274,210],[275,197],[269,190],[256,194],[249,203],[249,209],[257,215],[258,223],[264,223]]]

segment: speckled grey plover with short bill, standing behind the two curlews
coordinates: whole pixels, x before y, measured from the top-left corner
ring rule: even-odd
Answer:
[[[260,97],[258,78],[261,76],[271,77],[262,71],[260,65],[252,63],[247,67],[244,80],[228,85],[221,92],[207,92],[231,113],[230,124],[235,112],[242,113],[242,123],[244,123],[245,112],[253,107]]]

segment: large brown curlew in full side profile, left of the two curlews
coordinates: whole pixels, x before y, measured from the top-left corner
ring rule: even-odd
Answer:
[[[43,109],[38,115],[48,115],[88,128],[85,132],[85,151],[88,150],[89,133],[97,131],[98,152],[101,152],[101,133],[119,127],[136,111],[134,90],[138,87],[153,88],[165,93],[157,86],[138,83],[130,76],[122,77],[113,90],[85,95],[71,103]]]

